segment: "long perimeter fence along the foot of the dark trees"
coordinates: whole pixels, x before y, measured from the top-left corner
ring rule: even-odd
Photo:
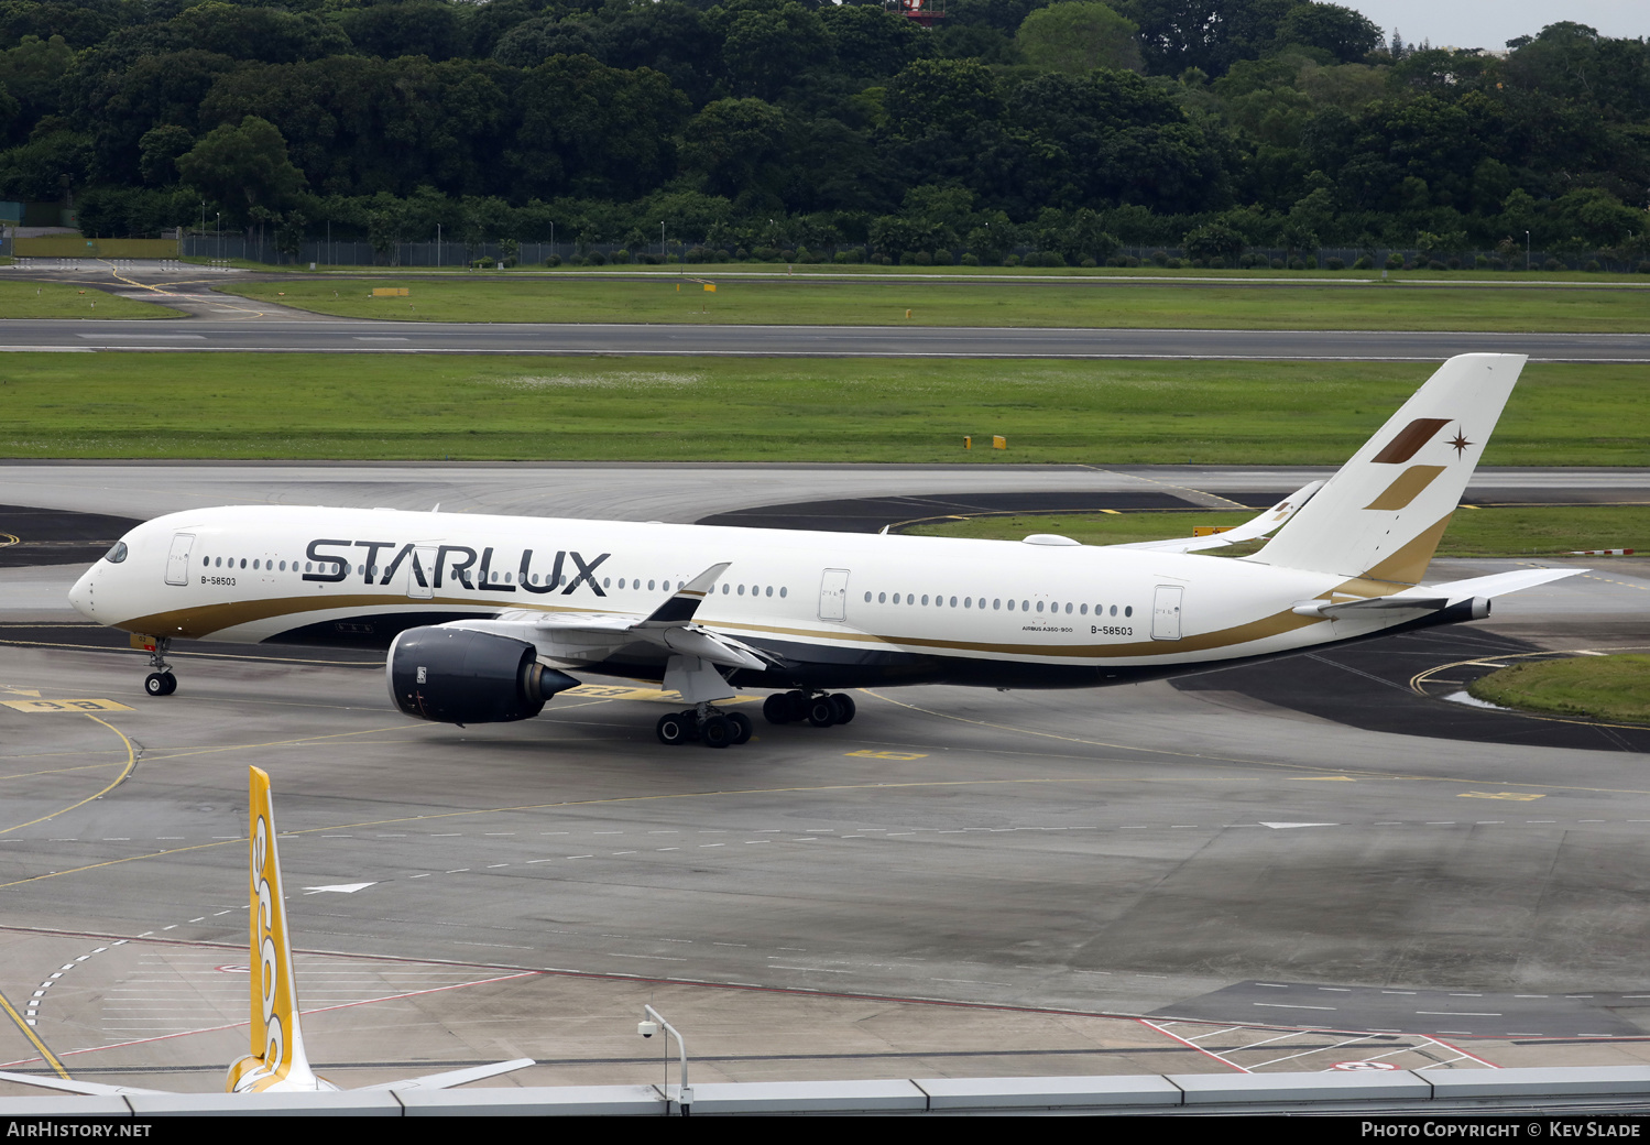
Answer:
[[[776,264],[884,264],[884,266],[1025,266],[1063,267],[1096,266],[1096,259],[1072,259],[1028,246],[1015,247],[1002,259],[974,259],[965,249],[908,251],[898,259],[870,251],[865,244],[830,246],[817,251],[756,247],[752,251],[713,251],[706,246],[686,246],[672,241],[667,254],[658,244],[648,249],[629,251],[619,243],[398,243],[380,249],[371,243],[345,239],[305,239],[297,252],[280,252],[269,238],[246,234],[185,234],[180,252],[191,259],[261,262],[266,266],[290,266],[295,271],[315,267],[373,267],[373,269],[498,269],[544,266],[713,266],[716,262],[776,262]],[[970,259],[974,259],[970,262]],[[1223,257],[1191,257],[1183,247],[1124,246],[1104,266],[1112,267],[1168,267],[1168,269],[1244,269],[1244,271],[1307,271],[1348,267],[1371,271],[1424,269],[1424,271],[1586,271],[1610,274],[1650,274],[1650,259],[1622,257],[1620,252],[1558,252],[1558,251],[1462,251],[1437,252],[1401,247],[1318,247],[1315,251],[1285,247],[1244,247],[1241,254]]]

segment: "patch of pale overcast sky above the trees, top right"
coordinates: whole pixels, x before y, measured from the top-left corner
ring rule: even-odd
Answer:
[[[1404,43],[1431,40],[1434,48],[1500,49],[1513,36],[1533,36],[1549,23],[1574,20],[1605,36],[1650,36],[1645,0],[1338,0],[1381,26],[1396,26]]]

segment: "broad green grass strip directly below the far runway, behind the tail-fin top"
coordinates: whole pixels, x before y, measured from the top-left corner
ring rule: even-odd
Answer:
[[[1338,465],[1432,366],[0,356],[0,455]],[[1531,365],[1490,465],[1642,465],[1650,371]],[[972,434],[1006,450],[964,452]]]

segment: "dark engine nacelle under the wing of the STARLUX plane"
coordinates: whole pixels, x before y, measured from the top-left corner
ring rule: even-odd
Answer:
[[[579,683],[541,665],[526,640],[469,629],[408,629],[389,645],[384,673],[396,708],[444,724],[531,719]]]

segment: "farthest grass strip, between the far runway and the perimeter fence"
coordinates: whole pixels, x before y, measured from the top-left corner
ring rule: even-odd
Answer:
[[[700,274],[716,280],[711,272]],[[375,299],[373,287],[408,297]],[[1219,330],[1650,330],[1638,289],[1436,289],[1398,284],[1214,287],[1048,282],[375,277],[252,282],[233,290],[351,318],[422,322],[681,322],[756,325],[1129,327]],[[231,289],[231,287],[224,287]],[[906,317],[906,312],[911,317]]]

